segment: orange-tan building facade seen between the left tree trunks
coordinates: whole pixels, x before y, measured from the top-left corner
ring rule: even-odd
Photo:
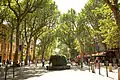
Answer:
[[[7,60],[9,60],[9,55],[10,55],[10,42],[11,40],[10,35],[8,32],[8,27],[4,24],[0,24],[0,63],[4,63]],[[15,44],[15,35],[13,35],[13,40],[12,40],[12,55],[11,55],[11,60],[14,59],[14,54],[15,54],[15,49],[16,49],[16,44]],[[18,53],[18,61],[20,61],[21,58],[21,40],[19,43],[19,53]],[[25,43],[24,43],[25,45]],[[26,48],[27,46],[23,47],[23,57],[25,58],[25,54],[26,54]],[[31,47],[30,47],[30,51],[29,51],[29,57],[32,56],[32,48],[33,48],[33,43],[31,43]]]

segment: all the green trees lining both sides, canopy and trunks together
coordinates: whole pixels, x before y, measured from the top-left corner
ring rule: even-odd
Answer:
[[[14,62],[17,63],[20,48],[23,60],[26,45],[26,64],[31,44],[33,60],[40,54],[42,59],[44,55],[49,57],[56,48],[60,49],[59,53],[68,57],[70,53],[74,58],[79,53],[120,47],[119,9],[118,0],[89,0],[79,13],[70,9],[60,14],[52,0],[2,0],[0,23],[7,22],[9,28],[9,60],[13,40],[16,42]],[[37,41],[40,43],[36,44]]]

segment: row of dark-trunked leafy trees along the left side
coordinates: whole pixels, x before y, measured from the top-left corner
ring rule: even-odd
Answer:
[[[19,50],[21,53],[21,60],[23,60],[24,45],[27,47],[25,58],[25,63],[27,64],[31,43],[33,43],[32,45],[34,46],[33,60],[35,60],[35,47],[39,36],[42,35],[42,39],[47,37],[47,39],[50,40],[50,36],[53,35],[50,30],[55,27],[57,18],[59,17],[59,11],[55,3],[52,0],[3,0],[0,1],[0,11],[0,23],[6,22],[9,28],[8,40],[11,43],[9,60],[11,60],[13,40],[16,42],[14,55],[14,62],[16,64]],[[45,34],[46,31],[50,32],[50,36],[47,36],[48,33]],[[14,36],[15,39],[13,39]],[[48,44],[50,43],[49,41]]]

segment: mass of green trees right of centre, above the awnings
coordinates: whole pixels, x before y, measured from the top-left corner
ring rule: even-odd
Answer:
[[[118,14],[114,14],[107,2],[89,0],[78,14],[71,9],[61,15],[57,37],[60,43],[70,49],[71,56],[120,47],[120,28],[117,23],[120,16],[115,17]],[[113,5],[113,2],[109,2]],[[119,2],[116,4],[119,13]]]

